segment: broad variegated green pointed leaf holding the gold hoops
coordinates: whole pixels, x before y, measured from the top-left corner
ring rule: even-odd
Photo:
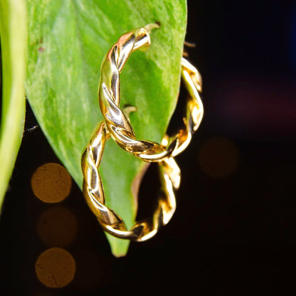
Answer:
[[[132,53],[122,71],[121,106],[137,107],[130,119],[138,139],[161,141],[179,92],[185,0],[28,0],[28,19],[26,94],[80,188],[80,157],[102,120],[97,100],[102,58],[123,33],[155,21],[162,26],[152,32],[149,51]],[[106,204],[129,228],[137,213],[136,176],[144,165],[107,142],[100,166]],[[127,253],[129,241],[107,238],[114,255]]]

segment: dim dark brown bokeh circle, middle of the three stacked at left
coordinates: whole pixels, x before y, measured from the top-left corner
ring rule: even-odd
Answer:
[[[48,246],[64,247],[77,235],[78,221],[65,207],[56,206],[41,213],[37,221],[38,236]]]

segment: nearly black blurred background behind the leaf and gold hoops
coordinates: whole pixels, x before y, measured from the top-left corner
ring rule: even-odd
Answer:
[[[125,258],[113,258],[73,184],[63,206],[78,220],[77,237],[67,247],[78,268],[66,287],[41,284],[34,264],[47,247],[35,224],[48,204],[33,196],[30,179],[41,164],[59,161],[41,130],[28,130],[36,120],[27,106],[26,132],[0,220],[1,295],[292,295],[296,3],[190,0],[188,5],[186,40],[196,48],[187,51],[203,76],[205,115],[190,147],[176,159],[182,180],[171,222],[152,240],[131,243]],[[211,176],[199,161],[217,137],[234,150],[214,145],[206,154],[213,170],[232,161],[233,151],[238,154],[234,171],[224,177]],[[149,177],[142,196],[148,184]]]

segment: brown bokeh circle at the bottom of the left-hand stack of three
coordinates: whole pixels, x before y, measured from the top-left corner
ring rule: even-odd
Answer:
[[[65,287],[75,275],[75,260],[63,248],[51,248],[38,257],[35,270],[38,280],[46,287]]]

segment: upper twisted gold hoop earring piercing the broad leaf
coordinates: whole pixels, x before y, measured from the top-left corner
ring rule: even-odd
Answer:
[[[146,140],[137,140],[125,112],[120,109],[120,72],[132,51],[147,49],[150,45],[149,31],[158,27],[149,24],[144,28],[121,36],[102,60],[99,85],[99,102],[102,115],[112,139],[127,152],[134,154],[145,162],[160,162],[165,157],[175,157],[183,152],[191,141],[192,134],[198,129],[203,117],[201,92],[201,75],[191,63],[182,58],[181,74],[189,91],[186,105],[184,127],[174,136],[165,136],[161,144]]]

